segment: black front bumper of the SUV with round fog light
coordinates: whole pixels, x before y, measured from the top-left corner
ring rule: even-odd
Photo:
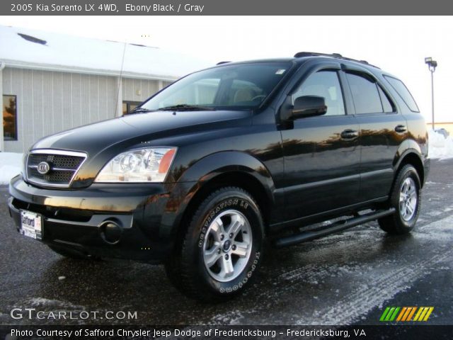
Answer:
[[[160,263],[173,248],[177,184],[93,184],[78,190],[49,190],[25,183],[9,186],[8,208],[19,230],[21,210],[42,215],[42,242],[93,256]],[[185,187],[185,186],[183,186]],[[178,193],[183,194],[183,188]],[[106,221],[120,226],[117,242],[105,237]]]

